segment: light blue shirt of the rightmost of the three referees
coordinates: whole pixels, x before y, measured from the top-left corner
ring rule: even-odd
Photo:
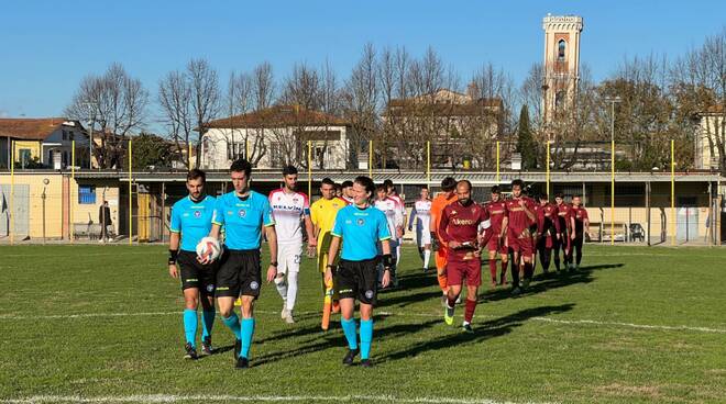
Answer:
[[[391,238],[386,215],[374,206],[348,205],[336,215],[331,234],[343,238],[341,259],[362,261],[378,255],[378,242]]]

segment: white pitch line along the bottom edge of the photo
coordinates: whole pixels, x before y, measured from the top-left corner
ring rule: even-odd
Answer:
[[[7,404],[35,404],[35,403],[179,403],[179,402],[353,402],[366,401],[374,403],[444,403],[444,404],[514,404],[514,402],[501,402],[488,399],[446,399],[446,397],[397,397],[393,395],[119,395],[84,397],[79,395],[34,395],[23,399],[0,400]],[[535,404],[534,402],[527,402]],[[539,403],[547,404],[547,403]]]

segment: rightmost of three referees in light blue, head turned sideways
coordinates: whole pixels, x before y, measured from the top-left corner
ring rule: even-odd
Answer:
[[[371,206],[371,197],[375,191],[373,180],[369,177],[358,177],[353,181],[354,204],[348,205],[336,215],[336,224],[331,232],[328,262],[334,262],[341,239],[343,251],[340,256],[336,284],[340,295],[341,325],[348,340],[348,354],[343,364],[353,364],[353,359],[361,354],[361,366],[371,368],[371,343],[373,340],[373,306],[376,304],[377,288],[377,245],[383,251],[383,288],[391,282],[391,233],[383,212]],[[332,280],[333,265],[326,268],[326,282]],[[359,350],[355,333],[355,300],[361,303],[361,347]]]

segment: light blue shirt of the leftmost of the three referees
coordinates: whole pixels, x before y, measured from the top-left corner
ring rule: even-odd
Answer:
[[[215,197],[207,195],[199,202],[195,202],[191,197],[187,197],[172,206],[172,225],[169,229],[173,233],[182,234],[182,250],[196,251],[199,240],[209,235],[216,203]]]

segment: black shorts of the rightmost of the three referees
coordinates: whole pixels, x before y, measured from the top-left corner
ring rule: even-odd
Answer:
[[[358,299],[361,303],[376,304],[378,288],[378,259],[362,261],[341,259],[336,273],[340,299]]]

